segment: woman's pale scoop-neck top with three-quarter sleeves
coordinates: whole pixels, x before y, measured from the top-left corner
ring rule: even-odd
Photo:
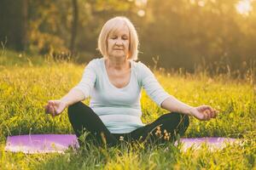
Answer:
[[[145,126],[141,121],[141,91],[160,105],[170,95],[160,86],[152,71],[142,62],[131,62],[130,82],[116,88],[108,79],[104,58],[92,59],[85,66],[82,80],[74,88],[91,97],[90,108],[101,118],[110,133],[130,133]]]

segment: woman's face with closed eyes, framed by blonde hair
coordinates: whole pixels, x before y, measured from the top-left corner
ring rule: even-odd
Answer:
[[[108,35],[108,57],[127,58],[129,53],[130,35],[127,26]]]

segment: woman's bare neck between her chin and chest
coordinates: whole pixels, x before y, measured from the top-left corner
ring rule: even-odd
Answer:
[[[108,57],[106,59],[106,66],[115,70],[125,70],[130,68],[130,62],[126,58],[113,58]]]

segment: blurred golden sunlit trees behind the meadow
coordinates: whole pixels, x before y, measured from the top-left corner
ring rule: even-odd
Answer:
[[[38,56],[100,57],[102,25],[131,19],[139,60],[167,71],[255,71],[256,0],[0,0],[1,48]]]

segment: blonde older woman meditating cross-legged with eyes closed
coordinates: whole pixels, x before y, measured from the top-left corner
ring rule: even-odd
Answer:
[[[211,106],[184,104],[160,86],[152,71],[136,62],[138,37],[125,17],[114,17],[102,27],[98,38],[102,58],[92,59],[82,80],[59,100],[49,100],[45,111],[52,116],[67,109],[69,121],[79,138],[85,131],[97,143],[119,144],[120,140],[165,143],[183,135],[189,116],[199,120],[216,117]],[[141,121],[141,90],[161,108],[170,111],[147,125]],[[81,101],[90,99],[90,105]]]

